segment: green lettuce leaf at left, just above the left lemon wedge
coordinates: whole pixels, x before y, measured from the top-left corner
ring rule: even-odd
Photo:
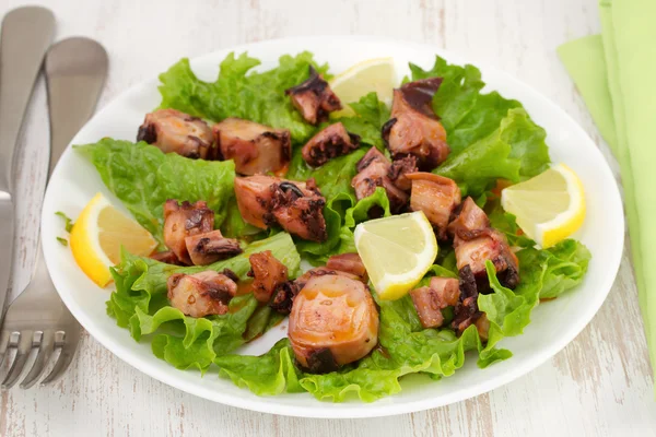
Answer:
[[[134,218],[163,245],[164,202],[168,199],[204,200],[219,226],[234,197],[232,161],[188,160],[139,142],[105,138],[95,144],[77,145],[95,166],[107,186]]]

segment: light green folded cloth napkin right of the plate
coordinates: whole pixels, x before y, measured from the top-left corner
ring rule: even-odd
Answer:
[[[558,54],[620,163],[640,307],[656,369],[656,1],[601,0],[599,14],[601,35],[564,44]]]

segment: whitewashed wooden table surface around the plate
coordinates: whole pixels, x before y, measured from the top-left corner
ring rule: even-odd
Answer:
[[[24,3],[0,0],[0,13]],[[496,66],[535,86],[599,133],[555,47],[599,31],[596,0],[51,0],[57,38],[84,35],[109,52],[99,103],[194,57],[283,36],[368,34],[434,44]],[[311,3],[313,3],[311,5]],[[48,141],[38,83],[15,174],[19,229],[13,290],[35,258],[40,152]],[[607,154],[608,155],[608,154]],[[593,322],[563,352],[518,380],[446,408],[377,420],[320,421],[251,413],[165,386],[84,334],[66,377],[51,388],[1,393],[1,436],[651,436],[656,404],[630,262]]]

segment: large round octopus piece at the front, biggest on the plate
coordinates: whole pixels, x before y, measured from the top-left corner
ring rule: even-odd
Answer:
[[[378,311],[367,286],[340,274],[312,277],[294,298],[289,338],[311,373],[364,357],[378,342]]]

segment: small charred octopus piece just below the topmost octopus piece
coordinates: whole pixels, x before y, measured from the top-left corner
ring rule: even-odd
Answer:
[[[345,155],[360,144],[360,137],[347,132],[341,122],[328,126],[303,146],[303,160],[313,167],[319,167],[333,157]]]

